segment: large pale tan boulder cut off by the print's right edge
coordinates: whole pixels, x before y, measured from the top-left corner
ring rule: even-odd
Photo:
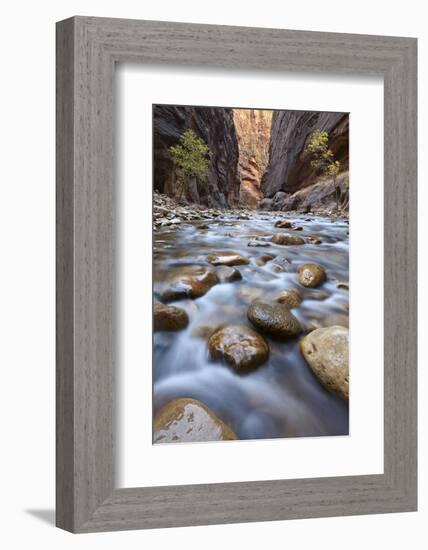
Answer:
[[[319,328],[303,338],[300,349],[321,384],[342,399],[349,397],[348,329]]]

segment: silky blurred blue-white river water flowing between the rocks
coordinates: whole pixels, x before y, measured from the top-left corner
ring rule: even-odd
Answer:
[[[303,230],[277,229],[274,223],[278,219],[290,219]],[[154,413],[173,399],[191,397],[207,405],[240,439],[347,434],[348,404],[320,385],[301,355],[299,339],[279,342],[266,337],[268,361],[254,372],[238,375],[210,359],[206,333],[219,325],[250,324],[247,308],[252,299],[269,301],[279,291],[293,287],[299,287],[304,295],[302,304],[292,310],[304,326],[342,324],[348,315],[349,297],[337,282],[348,282],[348,222],[263,213],[245,220],[239,213],[230,213],[205,223],[208,228],[196,223],[155,233],[155,288],[162,273],[171,268],[210,266],[206,256],[213,252],[237,252],[247,257],[249,264],[236,266],[242,280],[217,284],[195,300],[171,302],[187,311],[190,322],[182,331],[154,334]],[[263,243],[263,237],[268,242],[268,236],[277,232],[304,238],[316,235],[322,243],[248,246],[249,242]],[[256,237],[261,240],[255,241]],[[274,271],[281,269],[274,268],[275,260],[257,265],[257,259],[267,253],[276,255],[285,271]],[[281,262],[283,257],[291,263]],[[296,272],[303,262],[325,268],[328,278],[318,289],[298,284]],[[339,318],[342,322],[337,322]]]

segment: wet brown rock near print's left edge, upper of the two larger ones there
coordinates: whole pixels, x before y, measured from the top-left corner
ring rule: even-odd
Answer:
[[[219,279],[212,269],[201,266],[181,266],[166,274],[160,285],[160,295],[166,301],[199,298],[218,282]]]

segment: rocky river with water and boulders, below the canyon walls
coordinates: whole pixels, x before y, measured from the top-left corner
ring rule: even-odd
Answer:
[[[154,442],[348,433],[348,220],[154,196]]]

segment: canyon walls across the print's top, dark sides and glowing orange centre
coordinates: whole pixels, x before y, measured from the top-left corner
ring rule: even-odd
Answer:
[[[210,167],[206,180],[193,178],[183,185],[169,147],[189,128],[208,145]],[[320,170],[311,166],[305,149],[317,129],[329,133],[329,147],[340,161],[344,177],[337,182],[323,180]],[[310,211],[323,202],[334,204],[340,195],[342,208],[347,208],[347,113],[155,105],[153,146],[155,190],[182,202]],[[315,184],[313,190],[306,189]]]

